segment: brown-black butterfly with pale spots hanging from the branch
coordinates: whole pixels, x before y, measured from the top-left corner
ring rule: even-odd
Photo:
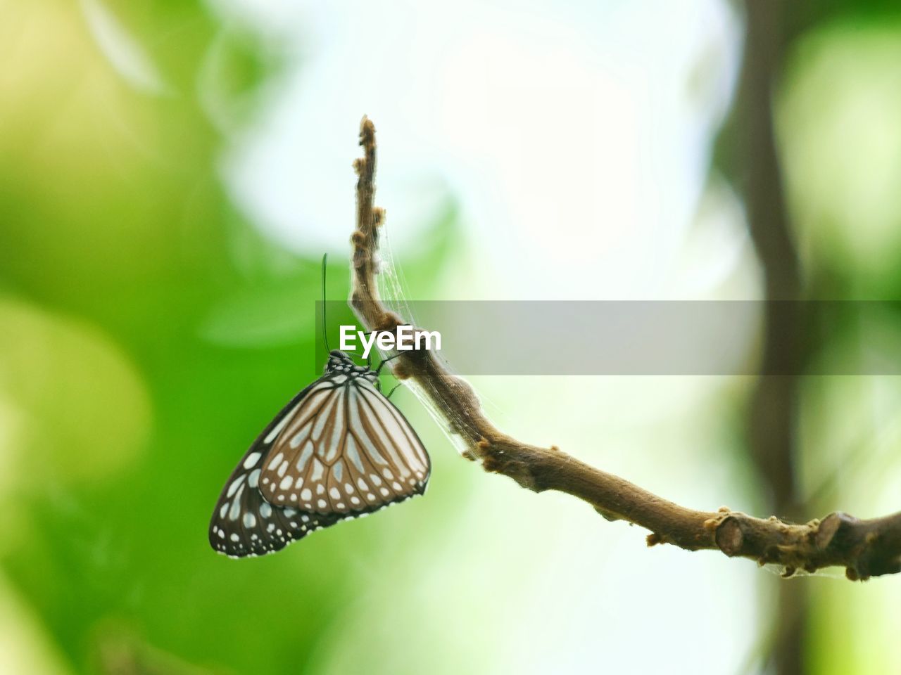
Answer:
[[[241,457],[210,520],[210,545],[270,554],[314,530],[423,494],[432,463],[378,370],[337,349]]]

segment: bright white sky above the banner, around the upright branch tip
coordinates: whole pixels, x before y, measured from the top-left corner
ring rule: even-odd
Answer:
[[[497,273],[475,297],[698,297],[746,247],[732,209],[704,238],[711,269],[679,271],[737,70],[721,0],[216,7],[296,55],[223,164],[250,220],[288,247],[343,253],[364,112],[396,252],[457,200]]]

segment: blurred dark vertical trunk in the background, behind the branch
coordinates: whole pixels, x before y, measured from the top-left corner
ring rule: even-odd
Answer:
[[[801,273],[789,225],[782,170],[773,120],[773,92],[785,49],[779,0],[748,0],[742,77],[733,108],[736,164],[744,194],[751,240],[760,259],[768,301],[794,301],[801,294]],[[739,159],[741,158],[741,159]],[[800,373],[807,344],[803,329],[780,302],[767,302],[761,368],[765,373]],[[773,370],[779,369],[779,370]],[[758,379],[748,410],[748,451],[756,465],[767,506],[779,518],[803,518],[805,503],[796,478],[798,376],[769,375]],[[777,675],[805,672],[807,588],[779,584],[774,590],[776,621],[770,653]]]

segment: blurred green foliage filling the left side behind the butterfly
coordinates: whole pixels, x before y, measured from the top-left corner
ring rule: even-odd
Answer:
[[[318,255],[261,238],[217,175],[278,54],[203,3],[0,10],[3,570],[72,671],[304,671],[442,507],[439,487],[265,561],[206,543],[232,465],[320,370]],[[446,253],[406,274],[427,288]],[[329,277],[346,297],[346,260]]]

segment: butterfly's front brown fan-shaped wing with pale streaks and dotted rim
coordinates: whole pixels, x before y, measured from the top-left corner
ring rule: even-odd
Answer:
[[[273,505],[346,518],[422,494],[430,471],[400,410],[368,377],[338,376],[278,429],[259,491]]]

